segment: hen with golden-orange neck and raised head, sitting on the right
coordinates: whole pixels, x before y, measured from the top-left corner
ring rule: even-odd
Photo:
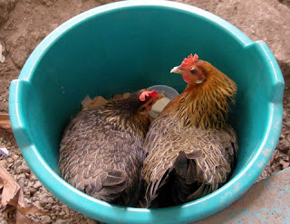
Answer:
[[[146,136],[142,176],[147,206],[176,205],[216,191],[227,182],[237,155],[237,136],[227,124],[236,83],[198,55],[190,54],[171,72],[188,85]]]

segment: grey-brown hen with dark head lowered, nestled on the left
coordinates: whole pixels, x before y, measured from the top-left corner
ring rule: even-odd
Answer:
[[[63,179],[94,198],[134,206],[150,126],[148,112],[158,98],[155,90],[141,89],[73,117],[60,147]]]

